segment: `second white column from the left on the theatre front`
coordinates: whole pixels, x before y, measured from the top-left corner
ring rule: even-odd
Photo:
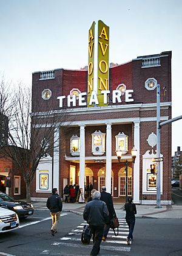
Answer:
[[[80,152],[79,152],[79,188],[83,188],[85,183],[85,127],[81,125],[79,127],[80,136]]]

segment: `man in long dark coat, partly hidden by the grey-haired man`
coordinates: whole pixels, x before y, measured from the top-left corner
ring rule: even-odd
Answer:
[[[113,218],[113,215],[116,215],[116,213],[115,213],[115,209],[113,207],[112,196],[111,196],[110,193],[106,192],[106,187],[105,186],[103,186],[101,188],[101,198],[100,198],[100,200],[106,203],[107,208],[109,210],[109,223],[107,223],[104,226],[104,232],[103,232],[103,238],[102,238],[103,241],[106,241],[107,234],[108,234],[109,229],[110,229],[110,220]]]

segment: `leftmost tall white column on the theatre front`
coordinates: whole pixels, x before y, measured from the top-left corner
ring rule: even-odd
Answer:
[[[59,191],[59,128],[56,128],[54,133],[53,188],[57,188]]]

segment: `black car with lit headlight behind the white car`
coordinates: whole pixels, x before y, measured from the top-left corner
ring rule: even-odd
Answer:
[[[33,215],[34,212],[32,204],[14,200],[13,197],[2,192],[0,192],[0,206],[7,207],[9,210],[14,211],[19,218],[27,218],[27,216]]]

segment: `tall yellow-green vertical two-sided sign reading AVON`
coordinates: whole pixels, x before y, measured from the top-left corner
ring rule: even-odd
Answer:
[[[98,35],[95,36],[95,34]],[[95,102],[96,98],[98,99],[98,102],[96,102],[98,107],[106,106],[106,103],[104,104],[104,95],[101,94],[101,91],[109,90],[109,27],[103,21],[98,21],[97,31],[95,30],[95,22],[92,23],[89,29],[88,49],[87,107],[93,107],[92,101]]]

